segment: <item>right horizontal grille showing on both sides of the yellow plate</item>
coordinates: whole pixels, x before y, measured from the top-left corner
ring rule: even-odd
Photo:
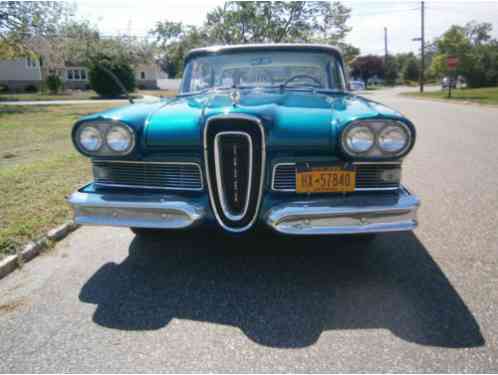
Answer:
[[[400,163],[354,163],[356,191],[395,190],[400,186]],[[391,179],[386,178],[391,174]],[[395,178],[393,179],[392,176]],[[296,191],[296,164],[281,163],[273,168],[272,190]]]

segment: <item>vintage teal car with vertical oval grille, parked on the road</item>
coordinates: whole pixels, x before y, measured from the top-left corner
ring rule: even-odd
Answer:
[[[348,91],[340,51],[261,44],[192,50],[176,97],[80,119],[94,180],[77,224],[135,233],[214,224],[242,233],[374,234],[416,227],[401,184],[415,127]]]

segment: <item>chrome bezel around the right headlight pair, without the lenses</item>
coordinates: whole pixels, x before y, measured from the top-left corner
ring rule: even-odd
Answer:
[[[355,152],[347,142],[349,132],[358,127],[368,127],[374,134],[374,145],[364,152]],[[406,143],[399,150],[389,151],[381,146],[380,137],[389,129],[399,129],[406,135]],[[394,119],[356,120],[348,124],[341,133],[341,149],[343,153],[354,159],[393,159],[406,155],[413,147],[415,131],[413,127]]]

